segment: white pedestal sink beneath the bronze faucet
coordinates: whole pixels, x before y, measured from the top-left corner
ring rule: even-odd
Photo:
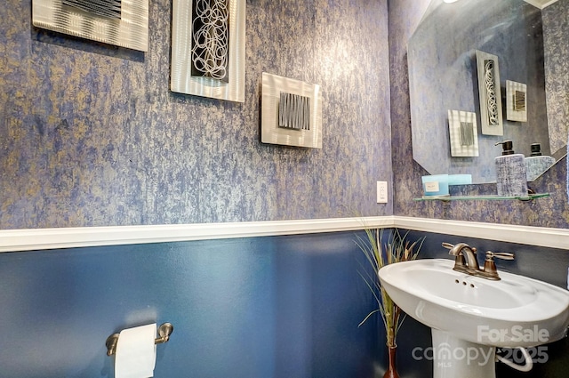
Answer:
[[[453,270],[454,261],[397,262],[380,269],[391,299],[432,328],[435,378],[494,378],[496,347],[536,347],[565,337],[569,292],[500,272],[500,281]]]

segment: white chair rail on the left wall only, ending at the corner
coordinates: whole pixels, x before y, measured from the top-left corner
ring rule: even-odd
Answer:
[[[132,245],[232,237],[335,232],[364,227],[393,227],[393,217],[303,221],[246,221],[156,226],[109,226],[66,229],[0,230],[0,252],[34,251],[95,245]]]

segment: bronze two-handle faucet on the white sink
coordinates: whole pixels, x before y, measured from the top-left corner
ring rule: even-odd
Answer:
[[[498,270],[496,269],[493,258],[514,260],[514,253],[488,251],[486,252],[484,269],[480,269],[477,259],[477,248],[471,247],[466,243],[459,243],[457,245],[443,243],[443,246],[449,249],[449,254],[456,256],[453,270],[467,273],[470,276],[492,279],[494,281],[500,280],[501,278],[498,276]]]

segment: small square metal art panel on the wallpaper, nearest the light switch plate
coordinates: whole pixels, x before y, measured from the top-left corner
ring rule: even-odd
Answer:
[[[322,91],[283,76],[262,74],[260,141],[322,149]]]

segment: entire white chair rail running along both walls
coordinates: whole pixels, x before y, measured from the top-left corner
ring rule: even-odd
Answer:
[[[443,221],[400,216],[300,221],[251,221],[157,226],[109,226],[68,229],[0,230],[0,252],[35,251],[97,245],[134,245],[234,237],[269,237],[364,228],[413,229],[525,245],[569,249],[569,229],[513,226],[472,221]]]

